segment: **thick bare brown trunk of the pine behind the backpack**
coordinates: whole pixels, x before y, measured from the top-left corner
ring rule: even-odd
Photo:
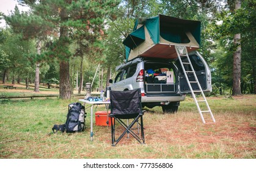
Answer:
[[[60,61],[59,71],[60,71],[60,81],[59,81],[60,98],[70,99],[71,98],[71,87],[70,87],[69,62],[68,61]]]

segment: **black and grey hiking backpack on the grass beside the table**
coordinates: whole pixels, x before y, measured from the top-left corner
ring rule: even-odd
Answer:
[[[64,133],[75,133],[84,131],[86,113],[81,103],[68,104],[67,120],[62,125],[54,125],[53,133],[61,131]]]

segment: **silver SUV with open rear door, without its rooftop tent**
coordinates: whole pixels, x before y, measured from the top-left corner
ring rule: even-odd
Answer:
[[[194,51],[189,53],[197,78],[204,92],[211,92],[211,72],[203,57]],[[111,90],[141,89],[142,106],[161,106],[163,112],[177,112],[180,101],[189,93],[188,83],[178,59],[139,57],[116,68],[114,81],[109,80]],[[193,73],[188,76],[194,77]],[[192,86],[194,90],[198,85]]]

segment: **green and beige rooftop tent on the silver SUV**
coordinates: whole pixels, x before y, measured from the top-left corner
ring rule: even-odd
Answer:
[[[200,21],[182,20],[165,15],[138,19],[134,31],[123,41],[126,60],[135,57],[175,59],[173,45],[188,46],[188,52],[200,46]]]

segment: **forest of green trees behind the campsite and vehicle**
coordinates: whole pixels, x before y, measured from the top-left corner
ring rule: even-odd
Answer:
[[[103,90],[125,59],[124,38],[136,18],[158,15],[202,22],[200,53],[211,68],[213,94],[256,93],[256,0],[17,0],[1,18],[2,83],[59,84],[60,98],[86,82]],[[95,75],[96,73],[96,75]]]

